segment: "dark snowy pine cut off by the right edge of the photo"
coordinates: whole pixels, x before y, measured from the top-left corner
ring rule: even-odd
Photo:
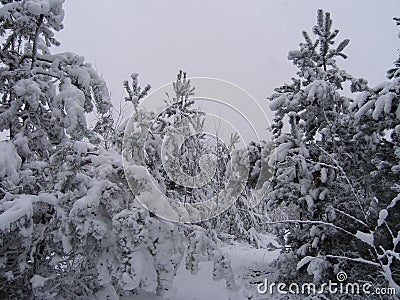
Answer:
[[[394,18],[399,25],[398,18]],[[400,290],[399,268],[399,134],[400,134],[400,81],[395,67],[388,71],[389,82],[361,93],[352,110],[357,134],[354,142],[363,162],[365,187],[360,198],[364,199],[366,215],[359,235],[367,233],[373,243],[367,246],[364,258],[376,262],[372,270],[377,274],[377,284],[389,285]]]

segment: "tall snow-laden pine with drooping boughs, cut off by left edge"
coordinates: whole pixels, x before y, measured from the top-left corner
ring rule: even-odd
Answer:
[[[9,297],[28,297],[36,286],[30,280],[54,272],[51,258],[62,247],[53,238],[65,216],[56,177],[63,163],[71,172],[81,163],[66,156],[54,165],[54,157],[84,139],[98,142],[86,115],[106,115],[111,106],[105,82],[83,57],[50,52],[59,45],[62,3],[2,1],[0,8],[0,130],[10,137],[4,157],[14,157],[1,166],[8,172],[0,192],[1,290]]]

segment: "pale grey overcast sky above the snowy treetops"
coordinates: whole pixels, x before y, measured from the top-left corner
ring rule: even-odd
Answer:
[[[179,69],[191,77],[237,84],[267,108],[265,98],[295,75],[289,50],[315,24],[316,11],[332,14],[337,41],[350,39],[341,66],[372,85],[398,56],[398,0],[67,0],[62,46],[86,57],[106,79],[114,103],[132,72],[160,87]]]

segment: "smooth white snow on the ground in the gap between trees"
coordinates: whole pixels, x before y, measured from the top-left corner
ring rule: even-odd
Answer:
[[[273,242],[274,237],[264,235],[263,245]],[[242,300],[258,299],[257,284],[267,276],[269,264],[274,260],[279,250],[270,251],[266,248],[256,249],[248,244],[232,242],[222,247],[223,252],[229,254],[235,280],[238,285],[237,292],[229,292],[225,281],[212,280],[212,262],[203,262],[199,265],[197,275],[192,275],[185,269],[184,261],[175,277],[177,288],[174,300]],[[163,300],[154,294],[142,294],[124,300]]]

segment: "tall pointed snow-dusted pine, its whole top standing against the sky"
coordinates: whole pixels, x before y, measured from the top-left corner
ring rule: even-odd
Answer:
[[[339,90],[349,81],[352,91],[359,91],[365,88],[366,81],[354,79],[337,67],[336,58],[347,58],[343,50],[349,43],[343,40],[333,47],[338,33],[332,30],[330,14],[318,10],[313,27],[315,40],[304,31],[305,42],[300,44],[300,50],[288,55],[299,68],[298,78],[292,79],[292,85],[277,88],[270,97],[270,107],[275,111],[272,128],[276,145],[269,163],[276,169],[268,206],[297,207],[292,217],[300,222],[289,228],[284,225],[286,230],[278,230],[278,236],[300,258],[324,253],[335,243],[336,232],[319,222],[331,221],[331,207],[346,202],[345,195],[349,193],[349,187],[342,184],[343,180],[346,183],[343,166],[336,162],[342,163],[349,155],[348,138],[354,129],[349,114],[351,100],[340,95]],[[285,122],[290,132],[284,132]],[[325,268],[320,270],[322,273],[329,271],[330,264],[321,266]],[[314,279],[322,280],[314,273]]]

